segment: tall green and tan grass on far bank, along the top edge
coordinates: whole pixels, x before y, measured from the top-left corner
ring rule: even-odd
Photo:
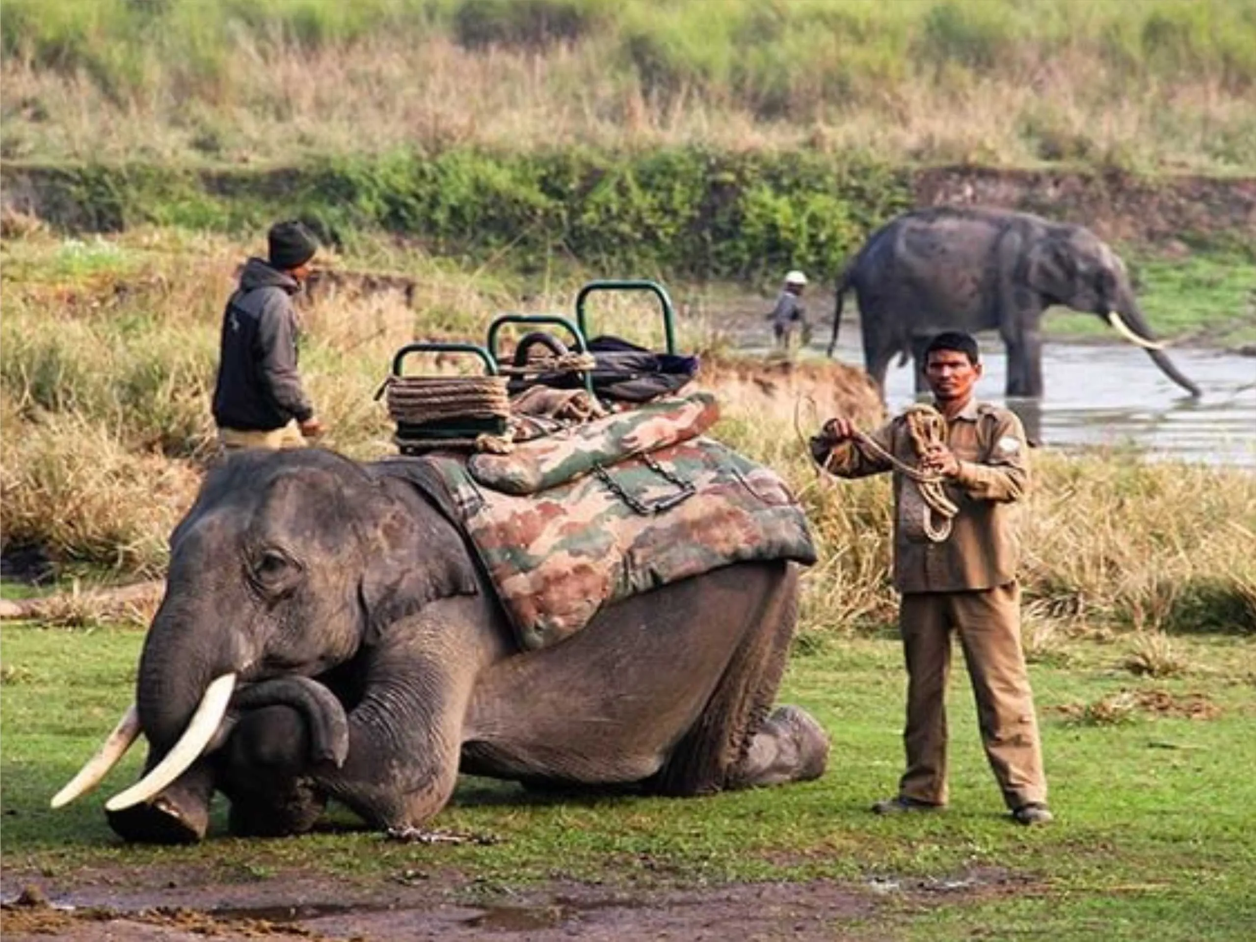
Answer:
[[[4,156],[815,147],[1251,170],[1248,0],[9,0]]]

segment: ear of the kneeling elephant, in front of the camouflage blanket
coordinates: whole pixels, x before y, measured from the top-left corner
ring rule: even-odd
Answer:
[[[384,491],[373,500],[377,524],[358,584],[367,643],[430,602],[479,592],[475,563],[445,517]]]

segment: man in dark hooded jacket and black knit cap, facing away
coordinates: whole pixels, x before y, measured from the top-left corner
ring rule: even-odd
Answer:
[[[214,421],[227,450],[299,448],[323,433],[296,372],[291,300],[318,242],[300,222],[276,222],[266,241],[268,260],[249,259],[222,314]]]

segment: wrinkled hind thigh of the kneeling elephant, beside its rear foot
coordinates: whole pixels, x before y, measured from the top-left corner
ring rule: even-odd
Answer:
[[[667,795],[701,795],[730,788],[752,751],[776,698],[798,619],[798,570],[789,564],[750,622],[741,643],[693,727],[651,781]],[[821,762],[823,769],[823,762]]]

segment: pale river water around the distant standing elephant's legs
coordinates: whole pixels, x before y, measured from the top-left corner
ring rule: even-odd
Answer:
[[[997,338],[981,338],[986,374],[982,399],[1002,398],[1005,357]],[[809,355],[823,355],[814,347]],[[843,325],[836,355],[863,364],[855,330]],[[1040,402],[1006,402],[1046,447],[1133,446],[1149,456],[1256,468],[1256,359],[1207,349],[1169,354],[1203,396],[1192,399],[1143,350],[1125,344],[1044,344]],[[896,360],[897,363],[897,360]],[[914,398],[912,368],[891,367],[885,397],[892,411]]]

